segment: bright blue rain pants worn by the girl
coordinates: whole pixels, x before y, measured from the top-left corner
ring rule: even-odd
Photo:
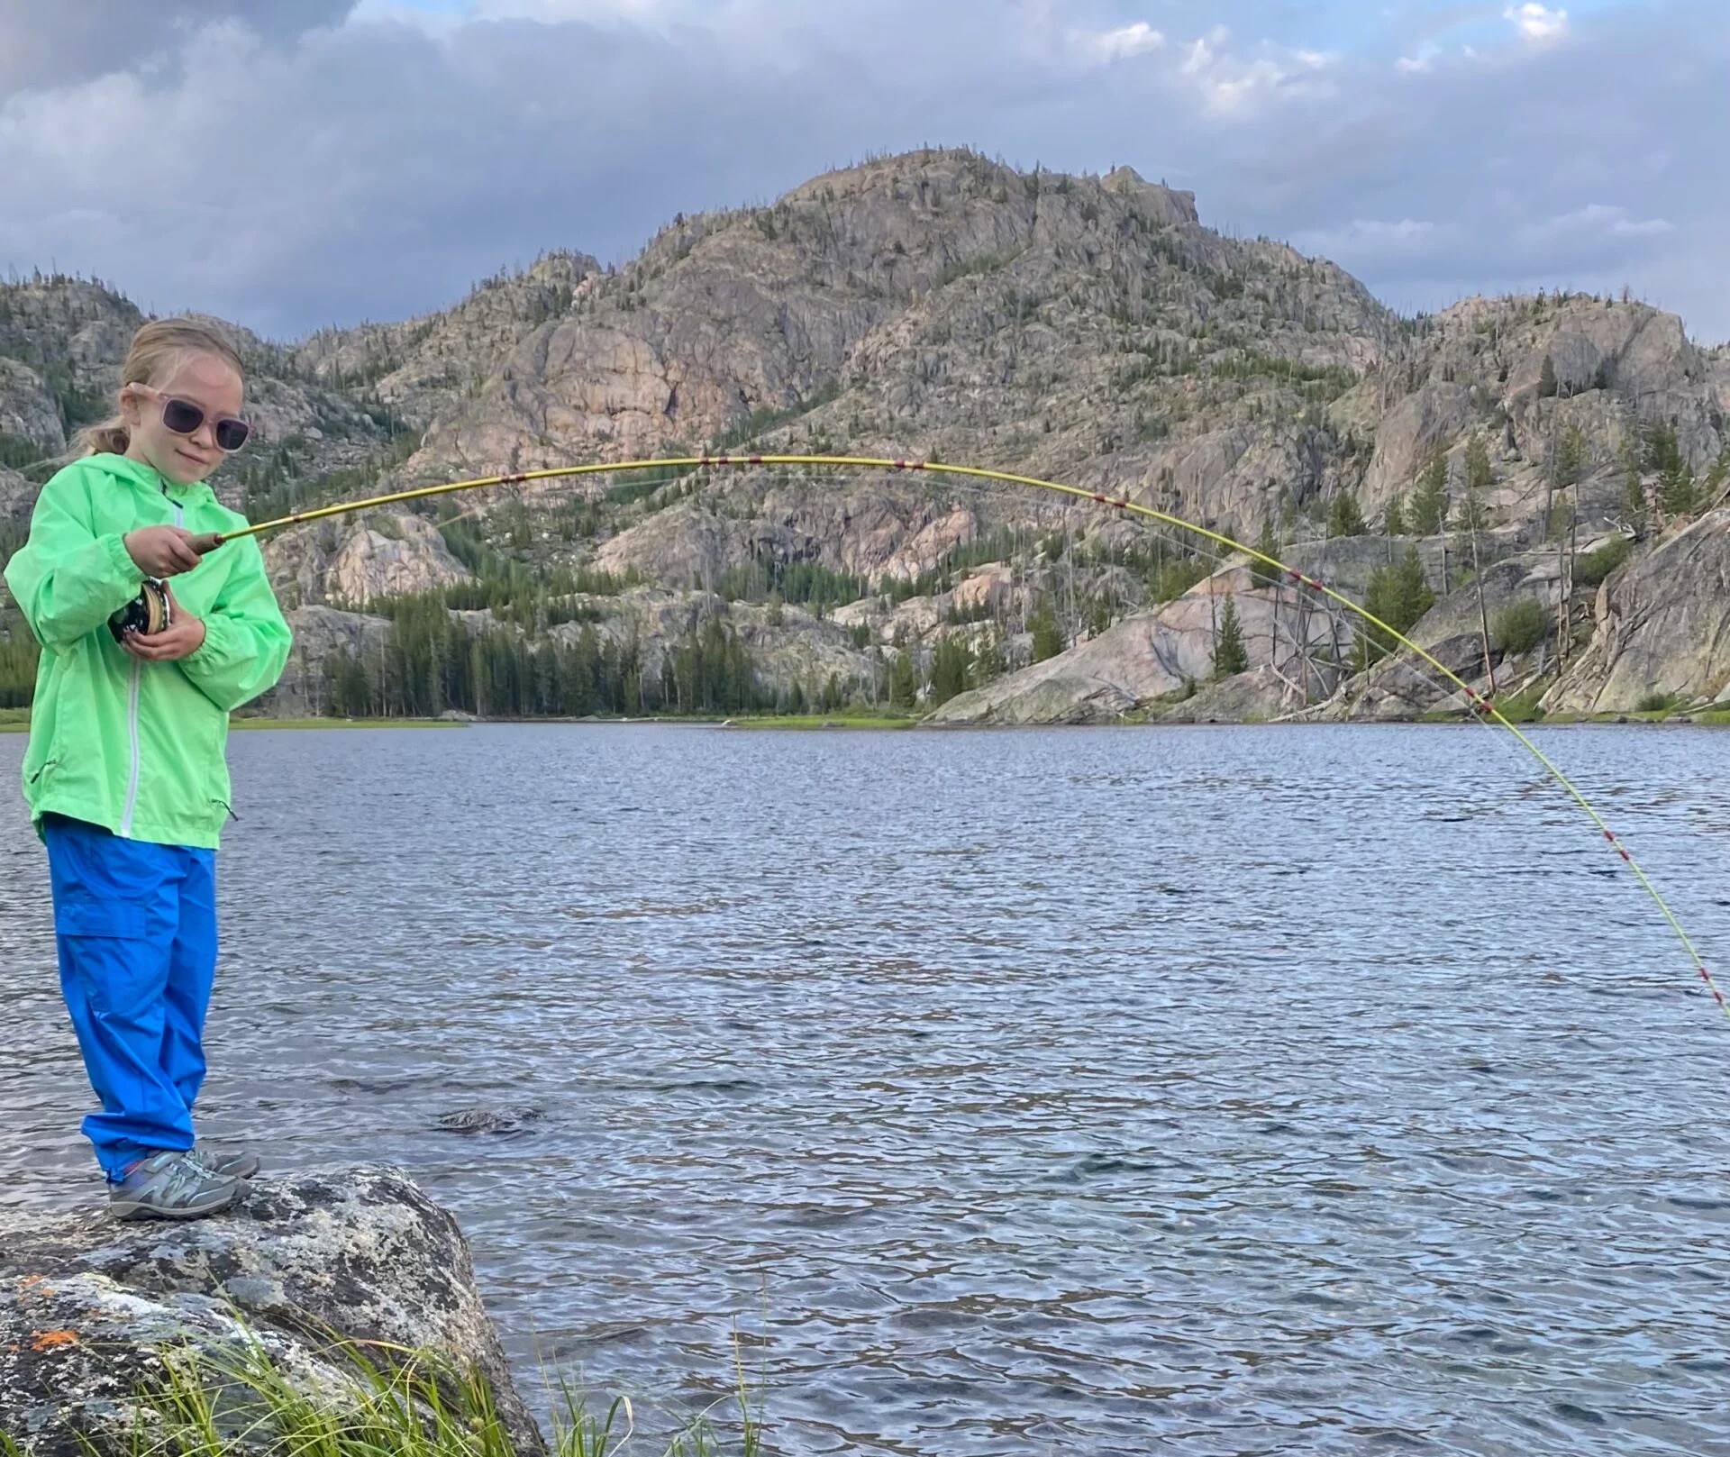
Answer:
[[[61,990],[102,1111],[83,1121],[111,1180],[192,1147],[216,978],[216,855],[48,817]]]

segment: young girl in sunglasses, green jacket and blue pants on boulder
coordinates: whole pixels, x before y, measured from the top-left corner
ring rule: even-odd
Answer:
[[[246,524],[204,485],[246,443],[240,407],[240,360],[218,334],[145,324],[119,414],[42,488],[5,569],[42,644],[24,799],[48,850],[61,988],[102,1101],[83,1132],[118,1218],[215,1213],[258,1170],[192,1133],[228,715],[289,652],[258,543],[201,555],[202,535]],[[168,602],[149,633],[119,625],[147,581]]]

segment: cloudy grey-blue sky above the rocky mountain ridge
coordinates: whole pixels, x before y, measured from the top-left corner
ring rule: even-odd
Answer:
[[[1727,0],[0,0],[0,270],[277,337],[867,152],[1128,163],[1389,303],[1730,337]]]

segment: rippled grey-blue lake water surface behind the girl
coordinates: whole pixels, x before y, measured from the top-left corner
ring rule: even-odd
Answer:
[[[1730,947],[1730,735],[1540,742]],[[22,749],[0,1204],[64,1206]],[[1730,1023],[1491,732],[230,760],[206,1128],[412,1168],[524,1370],[652,1428],[737,1325],[787,1454],[1730,1454]]]

